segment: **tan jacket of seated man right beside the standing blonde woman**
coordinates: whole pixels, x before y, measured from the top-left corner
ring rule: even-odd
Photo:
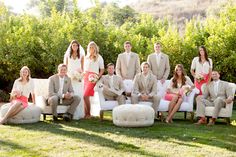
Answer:
[[[101,78],[101,83],[108,87],[110,92],[113,92],[117,95],[121,95],[125,91],[124,83],[121,77],[113,75],[113,87],[110,86],[110,77],[109,75],[103,75]]]

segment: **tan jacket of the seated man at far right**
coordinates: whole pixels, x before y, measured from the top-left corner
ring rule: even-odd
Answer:
[[[210,84],[206,86],[203,92],[203,98],[214,101],[218,97],[223,100],[233,97],[232,89],[229,87],[228,82],[220,80],[217,94],[214,91],[214,81],[211,81]]]

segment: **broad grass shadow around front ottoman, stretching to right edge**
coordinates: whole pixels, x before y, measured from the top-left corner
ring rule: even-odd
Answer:
[[[236,152],[236,129],[233,125],[217,122],[213,127],[197,126],[189,120],[175,119],[173,124],[155,122],[152,127],[146,128],[122,128],[113,125],[112,120],[99,119],[80,120],[78,123],[65,123],[70,127],[80,127],[98,133],[112,133],[135,138],[158,139],[173,142],[179,145],[197,147],[192,143],[199,143]],[[92,124],[92,125],[91,125]],[[227,136],[226,136],[227,135]],[[179,142],[173,141],[176,139]]]

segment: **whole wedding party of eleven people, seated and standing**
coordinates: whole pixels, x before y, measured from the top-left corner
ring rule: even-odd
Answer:
[[[64,64],[60,64],[58,73],[49,78],[48,104],[52,107],[55,121],[58,120],[57,106],[60,104],[70,105],[63,118],[66,121],[72,119],[75,109],[81,101],[78,96],[81,80],[78,76],[83,76],[84,118],[91,117],[90,96],[94,95],[96,84],[103,86],[105,99],[117,100],[118,104],[125,104],[126,97],[131,97],[132,104],[137,104],[139,101],[152,102],[156,117],[158,116],[157,110],[161,97],[157,95],[157,82],[164,84],[168,79],[170,73],[168,55],[161,51],[161,43],[155,43],[154,52],[148,56],[146,62],[140,65],[139,56],[131,51],[132,45],[129,41],[124,43],[124,49],[125,52],[118,55],[116,65],[109,63],[107,65],[108,74],[103,75],[104,60],[99,54],[99,48],[95,42],[88,44],[86,55],[76,40],[70,43],[64,56]],[[215,106],[214,116],[209,125],[215,123],[220,109],[233,101],[233,93],[226,82],[219,80],[219,73],[212,71],[212,68],[212,60],[208,58],[204,46],[199,47],[198,56],[192,60],[190,71],[194,77],[194,83],[186,75],[182,64],[175,66],[170,85],[164,95],[164,99],[170,101],[166,123],[173,122],[172,119],[183,102],[185,91],[191,92],[195,87],[200,90],[196,99],[197,116],[200,117],[197,124],[206,123],[204,109],[209,105]],[[211,78],[212,82],[210,82]],[[124,82],[127,80],[133,82],[132,91],[126,90],[124,86]],[[204,92],[202,91],[203,84],[207,84]],[[20,70],[20,78],[14,82],[12,88],[12,106],[0,120],[0,124],[6,123],[9,118],[27,107],[30,93],[34,103],[34,85],[30,79],[30,70],[24,66]]]

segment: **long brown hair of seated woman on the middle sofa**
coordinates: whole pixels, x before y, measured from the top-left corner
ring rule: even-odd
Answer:
[[[184,66],[182,65],[182,64],[177,64],[176,66],[175,66],[175,70],[174,70],[174,75],[173,75],[173,80],[172,80],[172,82],[173,82],[173,88],[178,88],[178,83],[177,83],[177,80],[178,80],[178,78],[179,78],[179,75],[177,74],[177,69],[178,68],[180,68],[181,69],[181,71],[182,71],[182,75],[180,76],[181,77],[181,82],[182,82],[182,85],[181,85],[181,87],[183,86],[183,85],[185,85],[185,82],[186,82],[186,78],[185,78],[185,76],[186,76],[186,73],[185,73],[185,70],[184,70]]]

